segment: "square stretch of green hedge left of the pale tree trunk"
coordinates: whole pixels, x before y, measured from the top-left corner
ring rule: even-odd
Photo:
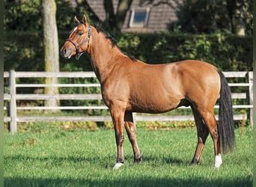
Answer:
[[[4,32],[4,70],[43,71],[42,33]]]

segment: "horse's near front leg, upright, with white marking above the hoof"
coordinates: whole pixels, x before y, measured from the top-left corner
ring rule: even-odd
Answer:
[[[117,163],[113,169],[118,169],[124,165],[124,111],[113,106],[110,112],[114,124],[115,141],[118,150]]]

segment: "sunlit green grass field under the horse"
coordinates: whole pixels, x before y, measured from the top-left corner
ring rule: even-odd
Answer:
[[[40,129],[4,133],[4,186],[252,186],[252,129],[236,129],[236,150],[214,168],[209,137],[200,165],[189,165],[197,142],[195,128],[138,128],[143,161],[134,165],[125,137],[125,165],[113,171],[112,129]]]

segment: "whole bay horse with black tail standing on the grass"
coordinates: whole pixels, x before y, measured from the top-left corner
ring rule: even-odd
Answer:
[[[198,144],[191,164],[198,164],[207,136],[213,139],[215,167],[222,165],[222,153],[234,150],[234,119],[231,90],[221,71],[204,61],[186,60],[168,64],[146,64],[124,54],[112,37],[86,16],[61,47],[61,56],[76,59],[87,53],[103,101],[109,108],[115,129],[117,160],[124,165],[124,129],[132,145],[134,162],[141,162],[132,112],[158,114],[190,106],[195,118]],[[219,99],[219,121],[214,105]]]

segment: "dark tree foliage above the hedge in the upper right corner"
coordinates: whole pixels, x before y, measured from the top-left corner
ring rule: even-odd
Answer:
[[[169,24],[170,31],[237,34],[243,26],[246,34],[252,35],[252,0],[184,0],[178,6],[177,18]]]

